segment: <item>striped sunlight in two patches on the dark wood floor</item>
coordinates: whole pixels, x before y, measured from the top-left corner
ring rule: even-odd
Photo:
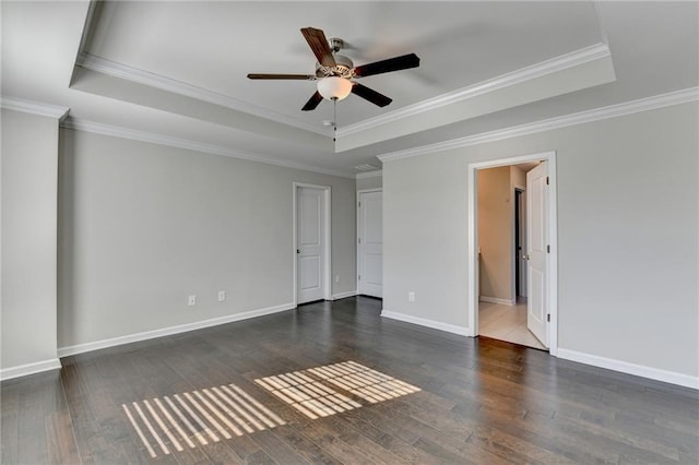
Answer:
[[[355,361],[259,378],[254,383],[310,419],[420,391]],[[152,458],[286,425],[235,384],[131,402],[121,408]]]

